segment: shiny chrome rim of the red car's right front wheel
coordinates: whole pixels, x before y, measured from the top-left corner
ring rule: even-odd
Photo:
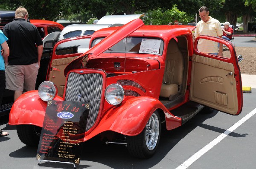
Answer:
[[[157,114],[153,113],[146,125],[145,140],[149,150],[153,150],[157,145],[159,135],[159,121]]]

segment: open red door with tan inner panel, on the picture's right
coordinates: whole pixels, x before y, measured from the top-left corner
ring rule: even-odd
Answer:
[[[222,57],[198,51],[198,41],[205,39],[220,42],[229,50],[224,51]],[[209,36],[198,37],[194,44],[190,82],[191,101],[232,115],[241,113],[241,74],[236,51],[230,42]]]

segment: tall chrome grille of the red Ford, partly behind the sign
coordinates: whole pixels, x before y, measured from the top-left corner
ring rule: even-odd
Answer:
[[[99,114],[102,87],[103,77],[99,73],[79,74],[71,72],[68,76],[65,100],[90,103],[85,131],[93,126]]]

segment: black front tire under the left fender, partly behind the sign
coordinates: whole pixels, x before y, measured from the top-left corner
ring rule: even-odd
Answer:
[[[17,125],[17,134],[20,141],[28,146],[38,146],[41,130],[41,127],[35,125]]]

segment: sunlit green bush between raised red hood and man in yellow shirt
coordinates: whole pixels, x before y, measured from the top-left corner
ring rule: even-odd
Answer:
[[[175,20],[183,25],[191,22],[192,17],[187,16],[186,12],[179,11],[177,5],[172,6],[172,9],[163,11],[161,8],[148,10],[143,17],[145,25],[168,25],[174,24]]]

